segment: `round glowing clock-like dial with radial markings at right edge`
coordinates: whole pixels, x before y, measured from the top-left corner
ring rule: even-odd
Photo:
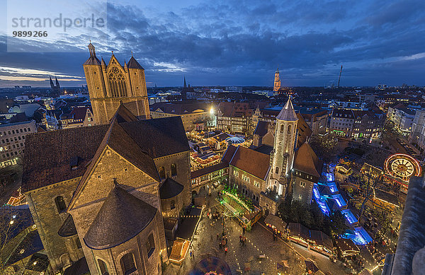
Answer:
[[[402,153],[388,157],[385,160],[385,170],[388,174],[405,182],[408,182],[410,177],[419,176],[421,173],[418,161]]]

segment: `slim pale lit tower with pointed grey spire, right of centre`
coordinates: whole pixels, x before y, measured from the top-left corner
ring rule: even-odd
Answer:
[[[297,121],[297,115],[289,98],[276,116],[271,170],[268,172],[267,180],[267,187],[276,191],[278,195],[285,195],[288,177],[293,167]]]

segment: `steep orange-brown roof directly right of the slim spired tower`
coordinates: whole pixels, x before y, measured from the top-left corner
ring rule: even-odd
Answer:
[[[295,152],[294,169],[305,172],[314,177],[320,177],[322,174],[322,160],[317,158],[310,144],[305,142]]]

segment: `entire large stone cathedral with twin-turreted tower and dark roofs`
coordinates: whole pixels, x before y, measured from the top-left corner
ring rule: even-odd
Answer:
[[[28,135],[22,190],[52,274],[86,262],[93,275],[159,275],[164,219],[191,204],[183,122],[147,119],[145,73],[133,57],[106,66],[89,50],[97,124]]]

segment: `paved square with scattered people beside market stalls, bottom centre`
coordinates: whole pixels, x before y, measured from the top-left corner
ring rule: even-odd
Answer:
[[[222,207],[213,199],[214,194],[208,197],[208,204],[212,212],[215,212],[217,207]],[[221,213],[224,209],[217,210]],[[165,274],[186,275],[197,262],[208,255],[224,259],[229,264],[232,274],[242,274],[245,270],[244,274],[278,274],[277,264],[283,264],[282,261],[285,261],[288,267],[279,269],[281,274],[302,274],[305,271],[304,260],[307,257],[314,259],[323,272],[329,272],[329,274],[347,274],[348,272],[348,269],[344,268],[340,262],[331,262],[328,257],[307,250],[293,242],[280,239],[273,242],[272,233],[263,226],[263,218],[253,226],[251,231],[245,233],[247,238],[245,246],[239,244],[242,228],[232,218],[227,218],[225,234],[227,235],[228,252],[225,254],[224,249],[220,250],[217,240],[217,233],[220,234],[222,228],[222,219],[210,220],[203,217],[191,246],[195,259],[191,259],[188,255],[180,270],[170,264]]]

